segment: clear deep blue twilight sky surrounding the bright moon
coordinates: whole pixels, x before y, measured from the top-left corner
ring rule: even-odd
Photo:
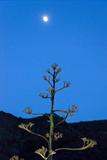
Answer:
[[[54,62],[72,82],[56,107],[77,104],[70,121],[107,119],[107,0],[0,0],[0,110],[49,112],[38,94]]]

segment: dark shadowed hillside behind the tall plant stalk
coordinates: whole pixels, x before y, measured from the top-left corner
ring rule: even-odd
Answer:
[[[60,117],[55,116],[55,122]],[[46,146],[43,140],[18,128],[20,123],[35,123],[37,133],[46,134],[49,122],[47,116],[22,119],[11,114],[0,112],[0,160],[9,160],[13,155],[18,155],[24,160],[42,160],[34,153],[35,150]],[[92,138],[97,141],[97,146],[85,151],[60,151],[54,160],[107,160],[107,120],[63,123],[56,131],[63,133],[63,139],[57,141],[54,148],[79,147],[81,137]]]

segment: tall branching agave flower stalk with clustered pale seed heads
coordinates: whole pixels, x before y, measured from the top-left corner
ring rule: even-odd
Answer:
[[[47,75],[43,76],[43,79],[48,82],[49,88],[48,91],[45,93],[40,93],[40,97],[43,99],[49,99],[51,101],[51,110],[48,115],[49,118],[49,131],[46,133],[46,135],[41,135],[38,133],[34,133],[32,131],[32,126],[34,125],[33,123],[28,123],[28,124],[20,124],[19,127],[26,130],[27,132],[39,136],[40,138],[44,139],[45,142],[47,143],[47,147],[42,146],[41,148],[37,149],[35,151],[36,154],[40,155],[44,160],[53,160],[53,155],[56,154],[60,150],[85,150],[88,148],[93,148],[94,145],[96,145],[96,141],[92,139],[88,139],[86,137],[81,138],[83,141],[83,146],[80,148],[57,148],[53,150],[53,143],[57,141],[60,138],[63,138],[63,134],[60,132],[55,132],[55,128],[66,121],[66,119],[70,116],[73,115],[78,110],[78,107],[75,105],[72,105],[69,109],[55,109],[55,96],[57,95],[58,92],[70,87],[70,82],[69,81],[64,81],[63,86],[61,88],[57,88],[57,83],[60,81],[58,78],[59,73],[61,72],[61,68],[58,67],[58,64],[53,64],[51,68],[47,70]],[[34,114],[32,112],[32,109],[30,107],[25,108],[24,110],[25,113],[27,114]],[[63,119],[59,121],[58,123],[54,123],[54,114],[56,112],[59,112],[64,115]],[[34,114],[38,115],[38,114]]]

